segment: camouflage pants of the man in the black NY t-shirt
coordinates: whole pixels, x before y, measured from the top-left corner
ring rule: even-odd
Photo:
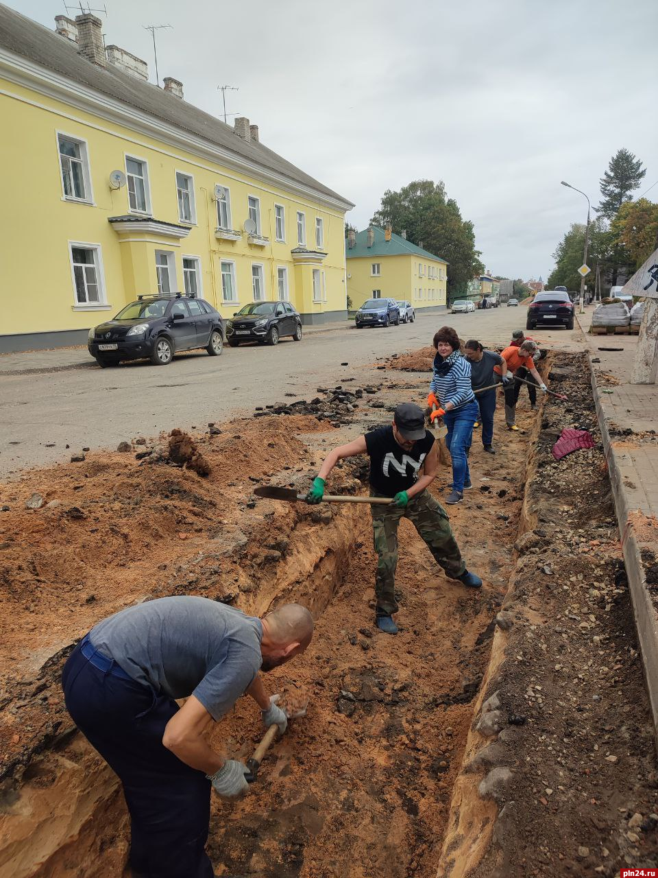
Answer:
[[[381,496],[374,491],[372,496]],[[409,500],[404,509],[395,506],[373,506],[372,526],[377,553],[375,594],[377,615],[397,613],[395,574],[397,567],[397,526],[401,518],[408,518],[425,540],[433,558],[447,575],[454,578],[466,570],[459,546],[453,536],[446,510],[429,491],[423,491]]]

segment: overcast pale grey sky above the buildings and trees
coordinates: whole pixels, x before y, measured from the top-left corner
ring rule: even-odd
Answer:
[[[41,24],[51,0],[9,0]],[[68,0],[69,4],[73,0]],[[626,147],[658,181],[656,0],[105,0],[104,32],[185,99],[260,126],[261,140],[355,203],[443,180],[495,274],[539,277]],[[94,2],[93,7],[102,7]],[[75,11],[69,15],[75,16]],[[229,119],[232,121],[232,119]],[[648,193],[658,200],[658,185]]]

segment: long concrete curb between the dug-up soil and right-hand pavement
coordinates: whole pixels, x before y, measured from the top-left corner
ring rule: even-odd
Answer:
[[[605,460],[608,464],[615,512],[619,522],[621,548],[624,553],[628,586],[633,603],[633,618],[638,634],[638,643],[640,644],[640,654],[644,666],[651,716],[654,719],[654,735],[656,746],[658,747],[658,614],[647,589],[647,578],[640,556],[640,543],[638,543],[633,531],[633,522],[630,518],[630,513],[633,510],[629,507],[628,497],[624,489],[623,464],[619,460],[619,454],[612,444],[608,431],[608,421],[610,419],[605,413],[602,394],[598,390],[597,378],[591,363],[590,379],[594,404],[597,410],[598,427],[601,430]]]

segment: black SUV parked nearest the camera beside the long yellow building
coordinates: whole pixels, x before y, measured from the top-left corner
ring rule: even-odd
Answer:
[[[223,343],[222,315],[194,294],[175,292],[138,296],[113,320],[91,327],[87,347],[105,368],[146,357],[166,366],[175,353],[196,348],[219,356]]]

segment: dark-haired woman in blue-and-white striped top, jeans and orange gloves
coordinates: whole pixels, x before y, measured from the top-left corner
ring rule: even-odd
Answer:
[[[427,397],[429,407],[436,406],[432,420],[443,416],[446,422],[446,445],[453,461],[453,484],[447,503],[460,503],[464,488],[471,487],[466,450],[477,420],[476,397],[470,383],[470,363],[461,356],[459,336],[452,327],[441,327],[434,335],[434,375]]]

